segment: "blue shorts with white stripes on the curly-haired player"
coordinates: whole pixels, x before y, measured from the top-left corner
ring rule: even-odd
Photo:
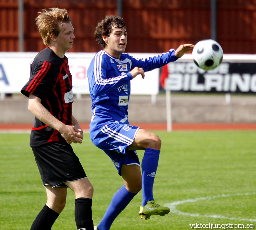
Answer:
[[[94,117],[90,124],[91,141],[111,158],[120,176],[122,165],[140,166],[136,150],[126,149],[132,144],[139,129],[130,125],[128,121],[117,123],[114,120],[105,121],[98,117]]]

